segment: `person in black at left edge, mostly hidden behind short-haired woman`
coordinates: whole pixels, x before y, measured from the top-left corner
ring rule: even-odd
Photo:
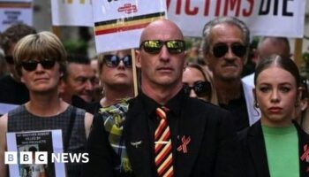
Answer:
[[[7,28],[1,35],[1,47],[4,50],[5,61],[10,74],[0,79],[0,103],[25,104],[29,100],[28,89],[26,89],[25,84],[20,82],[19,76],[15,72],[12,52],[15,44],[22,37],[35,33],[36,31],[33,27],[18,24]]]

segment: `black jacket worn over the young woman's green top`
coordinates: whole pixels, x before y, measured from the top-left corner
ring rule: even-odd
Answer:
[[[294,122],[298,130],[298,152],[300,177],[309,176],[309,135]],[[245,176],[250,177],[270,177],[268,168],[268,157],[264,142],[264,136],[260,120],[239,132],[238,141],[240,142],[242,152],[242,162]],[[308,151],[306,151],[308,149]],[[307,158],[306,158],[307,157]]]

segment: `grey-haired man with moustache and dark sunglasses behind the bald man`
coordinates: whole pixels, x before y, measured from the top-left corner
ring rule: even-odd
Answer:
[[[252,110],[252,97],[245,93],[252,92],[252,88],[246,89],[241,82],[249,34],[245,23],[233,17],[213,19],[203,29],[203,54],[213,72],[219,105],[232,113],[238,131],[259,119],[258,112]]]

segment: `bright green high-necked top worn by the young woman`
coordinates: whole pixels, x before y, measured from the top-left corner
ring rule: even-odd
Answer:
[[[290,127],[262,126],[271,177],[299,177],[298,132]]]

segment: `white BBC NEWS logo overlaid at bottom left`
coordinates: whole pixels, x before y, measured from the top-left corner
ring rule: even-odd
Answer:
[[[47,151],[4,152],[5,164],[48,164]],[[87,163],[88,153],[51,153],[51,163]]]

